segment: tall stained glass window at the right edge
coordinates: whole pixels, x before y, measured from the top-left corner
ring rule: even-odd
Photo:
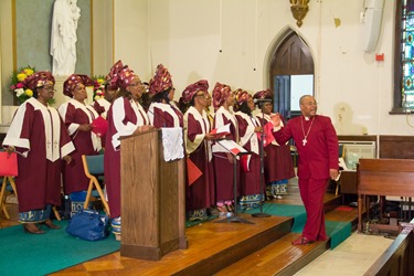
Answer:
[[[402,105],[414,109],[414,0],[404,0],[402,12]]]

